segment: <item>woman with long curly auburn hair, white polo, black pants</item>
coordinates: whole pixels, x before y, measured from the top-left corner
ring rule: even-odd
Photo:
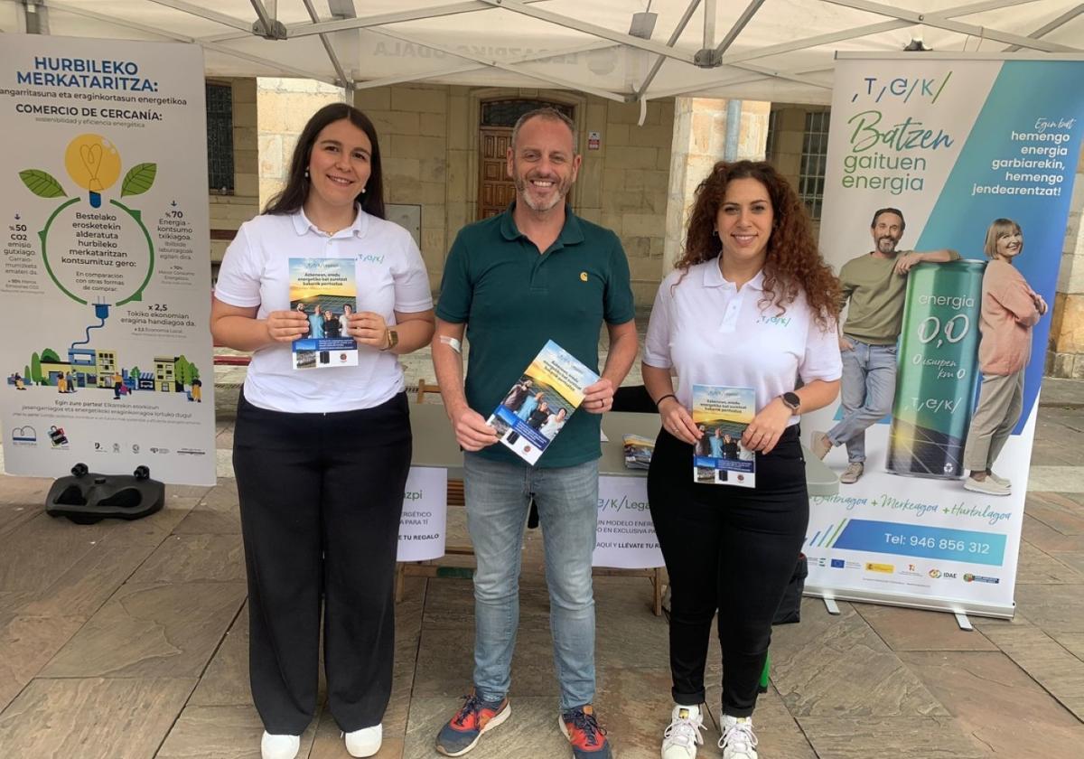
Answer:
[[[751,715],[772,618],[809,522],[798,420],[839,393],[839,294],[786,180],[766,163],[715,164],[697,188],[684,255],[659,286],[644,349],[644,383],[662,417],[647,494],[671,581],[675,704],[663,759],[692,759],[702,743],[717,610],[719,747],[724,759],[757,759]],[[693,451],[704,436],[689,413],[694,385],[754,390],[741,446],[754,451],[756,488],[694,481]]]

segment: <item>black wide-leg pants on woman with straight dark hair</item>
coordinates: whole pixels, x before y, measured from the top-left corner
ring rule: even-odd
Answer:
[[[272,734],[317,708],[323,595],[327,704],[339,728],[378,723],[391,695],[395,566],[411,429],[405,394],[330,414],[242,396],[233,466],[248,570],[253,700]]]

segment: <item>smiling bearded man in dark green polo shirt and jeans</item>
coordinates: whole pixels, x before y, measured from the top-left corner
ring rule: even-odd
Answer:
[[[533,497],[545,546],[559,724],[576,759],[610,757],[592,706],[598,422],[636,357],[636,329],[629,263],[617,235],[565,205],[580,168],[576,144],[575,125],[557,111],[525,114],[507,156],[515,202],[461,230],[444,265],[433,362],[464,450],[467,527],[478,563],[474,687],[437,736],[446,756],[466,754],[511,713],[520,546]],[[604,322],[609,352],[602,378],[586,388],[579,411],[538,463],[524,463],[498,442],[486,420],[546,340],[597,371]],[[470,344],[465,385],[464,333]]]

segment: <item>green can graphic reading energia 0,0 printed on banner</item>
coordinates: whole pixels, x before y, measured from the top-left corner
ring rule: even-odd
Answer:
[[[979,311],[985,261],[911,270],[900,334],[888,471],[964,475],[964,446],[979,378]]]

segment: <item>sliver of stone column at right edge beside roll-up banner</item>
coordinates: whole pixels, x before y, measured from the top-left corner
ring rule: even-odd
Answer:
[[[1069,207],[1046,373],[1084,380],[1084,151],[1076,164],[1076,182]]]

